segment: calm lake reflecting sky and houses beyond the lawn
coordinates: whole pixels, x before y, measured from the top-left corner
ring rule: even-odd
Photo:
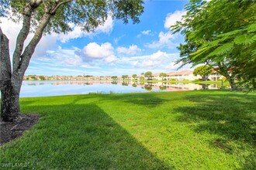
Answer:
[[[88,93],[137,93],[150,91],[182,91],[218,89],[216,84],[144,83],[99,80],[26,80],[20,97],[46,97]]]

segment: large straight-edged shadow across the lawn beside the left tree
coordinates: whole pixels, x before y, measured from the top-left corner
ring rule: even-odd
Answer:
[[[2,165],[27,163],[25,168],[39,169],[170,168],[95,104],[30,109],[40,110],[44,116],[33,131],[2,148]]]

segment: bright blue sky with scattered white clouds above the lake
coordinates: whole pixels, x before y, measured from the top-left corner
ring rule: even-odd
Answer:
[[[120,20],[107,19],[95,32],[81,32],[78,26],[67,35],[43,36],[26,70],[26,75],[93,75],[121,76],[146,71],[168,73],[177,70],[176,47],[183,41],[172,35],[169,27],[185,15],[188,1],[145,1],[140,23],[124,25]],[[20,24],[1,19],[0,26],[15,46]],[[15,32],[15,33],[14,33]],[[27,42],[33,37],[28,36]],[[26,43],[27,43],[26,42]],[[188,70],[185,66],[181,70]]]

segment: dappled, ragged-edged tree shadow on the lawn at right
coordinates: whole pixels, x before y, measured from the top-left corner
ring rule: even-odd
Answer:
[[[193,123],[196,132],[207,131],[221,137],[210,142],[210,145],[220,148],[227,154],[232,154],[236,147],[232,141],[246,144],[251,148],[251,154],[246,157],[244,169],[256,166],[256,97],[250,95],[192,95],[185,100],[194,103],[193,106],[178,107],[175,112],[182,113],[178,121]]]

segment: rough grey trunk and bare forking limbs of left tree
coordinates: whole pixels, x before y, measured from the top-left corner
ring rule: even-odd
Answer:
[[[45,12],[40,20],[33,39],[23,50],[26,37],[29,34],[31,14],[37,8],[42,0],[29,1],[26,3],[23,14],[22,29],[16,39],[16,49],[12,57],[12,68],[9,57],[9,39],[2,32],[0,27],[0,88],[1,88],[1,117],[3,121],[13,121],[20,114],[19,110],[19,92],[22,85],[22,77],[29,66],[35,48],[43,36],[43,30],[50,22],[50,18],[56,13],[57,8],[71,0],[56,1],[52,6],[44,4]],[[23,51],[23,52],[22,52]]]

